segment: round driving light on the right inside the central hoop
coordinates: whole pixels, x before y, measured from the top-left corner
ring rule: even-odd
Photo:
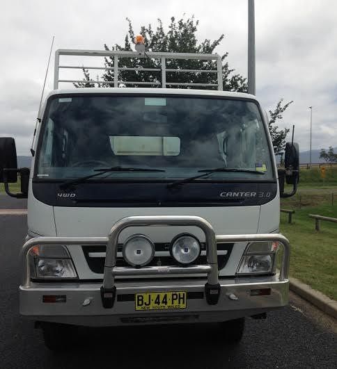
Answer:
[[[173,238],[170,251],[178,263],[190,264],[198,259],[201,253],[201,246],[194,236],[185,233]]]

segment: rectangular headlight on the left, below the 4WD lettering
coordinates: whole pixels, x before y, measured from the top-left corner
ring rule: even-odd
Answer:
[[[77,278],[68,249],[62,245],[38,245],[29,250],[31,277]]]

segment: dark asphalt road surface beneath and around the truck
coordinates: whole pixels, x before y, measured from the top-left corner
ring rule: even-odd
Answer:
[[[1,197],[2,201],[2,197]],[[13,200],[15,201],[15,200]],[[84,329],[69,352],[45,348],[18,313],[26,216],[0,215],[0,368],[337,368],[336,321],[295,295],[267,320],[246,322],[237,347],[216,326]]]

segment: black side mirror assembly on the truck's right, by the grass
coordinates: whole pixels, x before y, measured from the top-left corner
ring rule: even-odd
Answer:
[[[299,183],[299,145],[296,142],[287,142],[285,144],[284,166],[284,169],[280,168],[277,171],[279,174],[280,196],[290,197],[295,195],[297,183]],[[292,184],[292,192],[284,192],[285,182]]]

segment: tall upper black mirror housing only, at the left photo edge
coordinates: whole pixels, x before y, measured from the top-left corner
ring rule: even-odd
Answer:
[[[17,150],[11,137],[0,138],[0,183],[4,182],[17,182]]]

